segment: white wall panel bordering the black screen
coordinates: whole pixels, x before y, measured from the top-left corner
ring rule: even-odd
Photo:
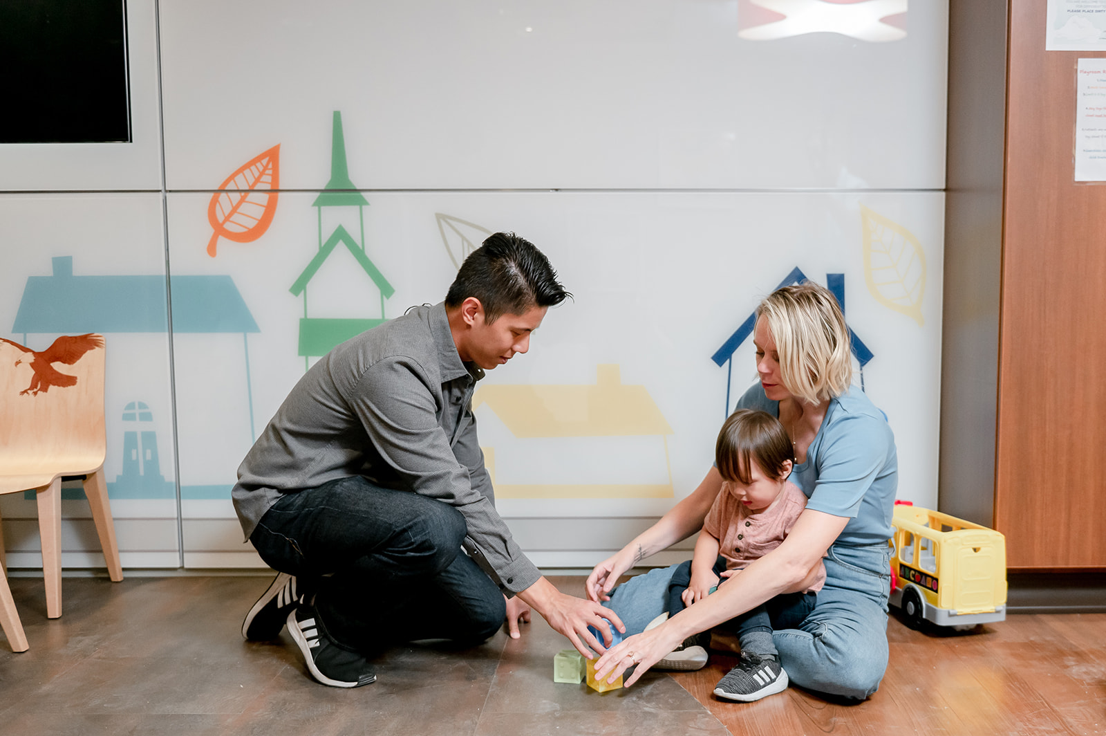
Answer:
[[[154,0],[127,0],[126,9],[132,142],[2,144],[0,190],[161,188]]]

